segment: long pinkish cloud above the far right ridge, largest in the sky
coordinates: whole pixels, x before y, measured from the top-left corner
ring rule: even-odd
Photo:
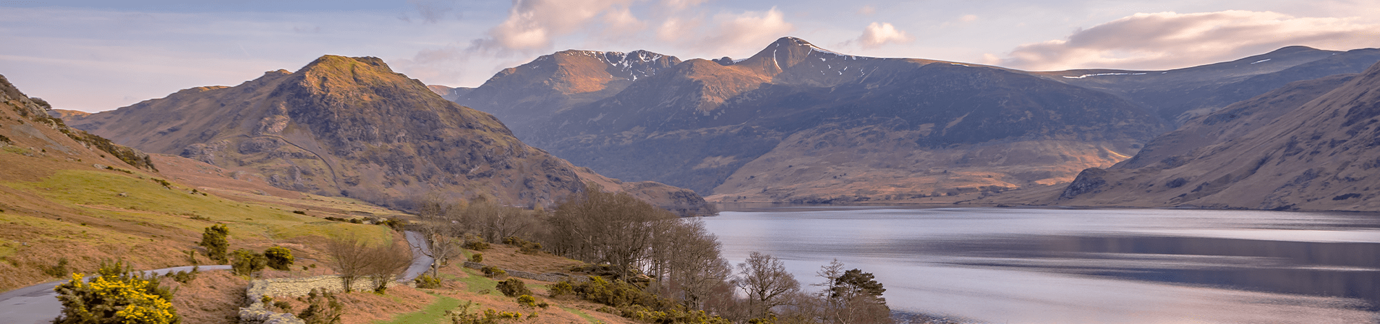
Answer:
[[[1065,40],[1023,44],[987,63],[1017,69],[1173,69],[1238,59],[1286,45],[1350,50],[1380,40],[1380,25],[1358,18],[1290,17],[1271,11],[1136,14]],[[1380,43],[1380,41],[1376,41]]]

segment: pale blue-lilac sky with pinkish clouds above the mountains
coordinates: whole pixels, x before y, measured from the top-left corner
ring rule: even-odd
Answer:
[[[0,74],[57,109],[101,112],[324,54],[477,87],[562,50],[745,58],[782,36],[1024,70],[1176,69],[1380,47],[1380,1],[0,0]]]

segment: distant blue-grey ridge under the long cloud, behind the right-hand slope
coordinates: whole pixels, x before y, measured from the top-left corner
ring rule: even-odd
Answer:
[[[1236,61],[1173,70],[1081,69],[1034,74],[1116,94],[1145,105],[1165,120],[1183,124],[1292,81],[1359,73],[1377,61],[1377,48],[1325,51],[1290,45]]]

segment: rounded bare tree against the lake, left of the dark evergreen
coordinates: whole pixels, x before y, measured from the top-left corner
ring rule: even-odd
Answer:
[[[781,259],[753,251],[747,262],[738,263],[738,277],[734,285],[748,295],[752,316],[767,318],[771,307],[785,305],[785,301],[800,291],[800,281],[785,270]]]

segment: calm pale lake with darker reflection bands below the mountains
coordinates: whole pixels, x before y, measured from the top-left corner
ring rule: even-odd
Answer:
[[[729,208],[731,210],[731,208]],[[838,258],[894,310],[981,323],[1380,323],[1380,215],[762,208],[704,218],[724,258]]]

